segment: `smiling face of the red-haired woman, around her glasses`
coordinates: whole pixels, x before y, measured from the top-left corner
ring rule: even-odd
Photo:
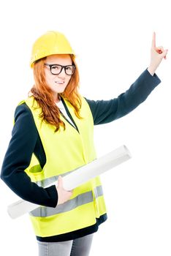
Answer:
[[[72,59],[69,54],[55,54],[47,56],[45,60],[46,64],[59,64],[62,66],[72,65]],[[55,102],[58,102],[58,94],[62,93],[69,83],[72,75],[66,75],[64,68],[58,75],[53,75],[50,72],[50,67],[45,66],[45,80],[47,86],[53,92],[53,98]]]

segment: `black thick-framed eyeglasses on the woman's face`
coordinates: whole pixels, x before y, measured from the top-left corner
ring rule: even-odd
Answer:
[[[47,64],[45,63],[45,66],[50,67],[50,72],[53,75],[58,75],[61,73],[62,69],[64,68],[66,75],[73,75],[75,72],[75,65],[67,65],[67,66],[62,66],[58,64]]]

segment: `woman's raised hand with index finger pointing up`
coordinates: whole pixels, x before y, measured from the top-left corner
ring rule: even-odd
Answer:
[[[151,63],[148,67],[148,72],[153,75],[156,72],[157,67],[161,63],[162,59],[166,59],[167,56],[167,49],[164,50],[162,46],[156,47],[156,33],[153,32],[153,39],[151,45]]]

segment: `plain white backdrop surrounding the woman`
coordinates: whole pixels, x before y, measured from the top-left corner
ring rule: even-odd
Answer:
[[[111,99],[148,67],[153,31],[156,45],[171,51],[170,21],[164,0],[1,1],[0,164],[15,107],[33,84],[28,63],[37,37],[63,32],[77,53],[81,93]],[[128,116],[95,128],[98,156],[125,144],[132,159],[102,176],[108,220],[94,236],[91,256],[171,255],[170,51],[156,72],[161,84],[148,99]],[[37,255],[28,216],[7,215],[16,199],[0,181],[0,254]]]

